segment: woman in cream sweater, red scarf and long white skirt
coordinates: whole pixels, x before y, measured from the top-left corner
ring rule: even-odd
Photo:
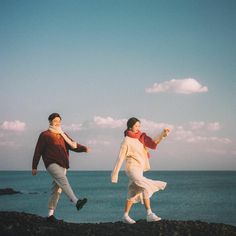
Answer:
[[[143,172],[150,169],[148,148],[156,149],[170,130],[164,129],[161,135],[152,139],[140,131],[140,121],[132,117],[127,121],[127,129],[124,132],[125,138],[121,144],[119,156],[111,174],[112,183],[118,182],[118,174],[122,163],[126,160],[125,172],[129,178],[128,195],[125,204],[122,221],[127,224],[136,223],[130,216],[129,211],[134,203],[144,203],[148,222],[158,221],[158,217],[151,210],[150,198],[156,191],[163,190],[166,182],[151,180],[143,176]]]

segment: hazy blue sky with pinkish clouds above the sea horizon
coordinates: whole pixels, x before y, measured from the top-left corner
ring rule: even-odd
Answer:
[[[0,0],[0,170],[31,170],[53,112],[91,148],[70,152],[71,170],[112,170],[130,117],[151,137],[171,129],[152,170],[236,170],[235,10],[234,0]]]

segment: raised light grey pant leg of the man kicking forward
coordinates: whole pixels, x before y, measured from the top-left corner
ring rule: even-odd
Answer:
[[[67,197],[74,203],[77,203],[78,198],[75,196],[70,183],[66,177],[66,169],[53,163],[47,168],[48,173],[51,175],[55,183],[62,189]]]

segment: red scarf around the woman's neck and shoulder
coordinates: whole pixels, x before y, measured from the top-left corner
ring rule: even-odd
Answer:
[[[125,130],[124,132],[125,136],[128,136],[130,138],[136,138],[144,145],[144,148],[151,148],[156,149],[157,143],[155,143],[152,138],[146,135],[146,133],[141,133],[138,131],[137,133],[132,132],[131,130]],[[150,157],[149,152],[147,152],[148,157]]]

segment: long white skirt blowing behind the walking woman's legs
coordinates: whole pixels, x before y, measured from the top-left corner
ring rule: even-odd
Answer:
[[[127,199],[133,203],[143,199],[151,198],[153,193],[165,189],[167,183],[158,180],[148,179],[143,176],[142,168],[132,166],[126,169],[126,175],[129,178]]]

